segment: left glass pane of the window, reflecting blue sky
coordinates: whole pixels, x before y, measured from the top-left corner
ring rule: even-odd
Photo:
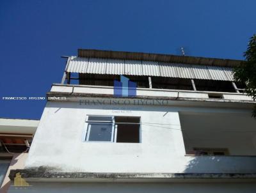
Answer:
[[[111,141],[112,124],[89,123],[90,135],[88,141]]]

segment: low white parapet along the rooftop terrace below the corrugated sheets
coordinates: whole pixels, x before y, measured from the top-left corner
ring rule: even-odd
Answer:
[[[244,93],[225,93],[212,91],[188,91],[188,90],[173,90],[173,89],[148,89],[137,88],[137,95],[133,98],[149,98],[149,99],[164,99],[164,100],[193,100],[193,101],[214,101],[214,102],[252,102],[253,99]],[[73,96],[91,95],[95,97],[113,96],[112,86],[88,86],[88,85],[70,85],[70,84],[52,84],[51,93],[63,93]],[[104,94],[104,95],[102,95]],[[211,95],[211,97],[209,96]],[[218,96],[212,98],[212,96]],[[220,98],[219,98],[220,97]],[[115,97],[117,98],[117,97]],[[119,97],[132,98],[132,97]]]

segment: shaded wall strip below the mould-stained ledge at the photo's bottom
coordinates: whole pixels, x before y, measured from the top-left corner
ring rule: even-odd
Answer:
[[[70,193],[70,192],[111,192],[111,193],[170,193],[170,192],[195,192],[195,193],[250,193],[255,192],[256,183],[31,183],[27,189],[16,190],[9,193],[38,192],[38,193]]]

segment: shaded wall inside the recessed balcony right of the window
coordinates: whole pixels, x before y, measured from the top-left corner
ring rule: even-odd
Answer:
[[[256,155],[256,119],[251,114],[180,112],[187,153],[227,148],[230,155]]]

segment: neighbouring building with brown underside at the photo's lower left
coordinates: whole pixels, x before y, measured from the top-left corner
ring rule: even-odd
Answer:
[[[6,193],[11,169],[24,169],[39,120],[0,118],[0,192]]]

